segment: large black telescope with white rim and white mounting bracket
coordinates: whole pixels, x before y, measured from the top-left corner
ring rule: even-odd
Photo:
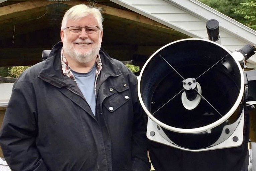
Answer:
[[[217,20],[207,22],[207,32],[209,40],[163,46],[143,66],[138,95],[148,116],[149,140],[190,152],[243,143],[245,112],[256,104],[256,71],[244,68],[256,48],[245,45],[231,53],[221,45]],[[253,171],[255,144],[248,163]]]

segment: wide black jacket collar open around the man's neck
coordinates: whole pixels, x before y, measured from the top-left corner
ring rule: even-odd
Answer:
[[[72,82],[74,82],[73,80],[71,82],[70,78],[67,79],[67,76],[64,76],[61,71],[61,48],[61,42],[58,42],[56,45],[53,46],[38,76],[40,79],[59,88],[62,86],[68,86],[72,84]],[[121,75],[121,71],[119,70],[119,68],[114,64],[114,61],[102,48],[100,49],[99,54],[102,62],[101,82],[104,82],[110,76],[115,77]]]

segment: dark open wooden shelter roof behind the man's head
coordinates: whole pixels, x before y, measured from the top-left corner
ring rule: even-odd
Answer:
[[[41,61],[43,50],[60,41],[64,13],[80,0],[8,0],[0,3],[0,66],[26,66]],[[112,58],[143,65],[159,47],[188,38],[174,29],[108,0],[91,4],[102,8],[102,47]]]

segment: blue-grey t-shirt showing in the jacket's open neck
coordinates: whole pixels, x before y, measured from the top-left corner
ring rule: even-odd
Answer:
[[[96,97],[94,93],[94,84],[96,77],[96,64],[88,73],[77,73],[73,70],[71,70],[71,72],[73,73],[77,81],[78,87],[82,91],[87,103],[89,104],[93,114],[95,115]]]

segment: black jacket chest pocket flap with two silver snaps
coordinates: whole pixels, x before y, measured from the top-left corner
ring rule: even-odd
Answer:
[[[106,99],[103,105],[108,109],[108,111],[113,112],[120,106],[122,106],[124,103],[126,103],[129,99],[130,97],[126,92],[115,93],[108,99]]]

